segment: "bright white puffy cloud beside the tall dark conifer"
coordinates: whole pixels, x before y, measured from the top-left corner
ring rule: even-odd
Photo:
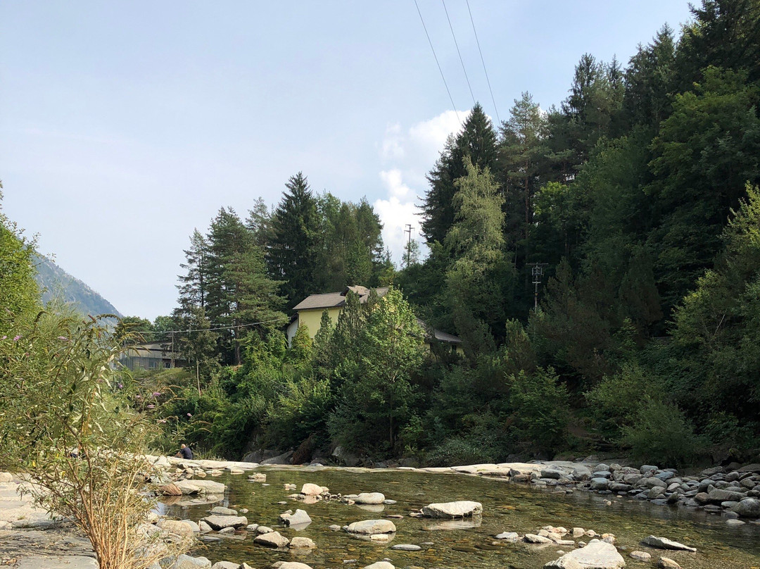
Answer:
[[[404,233],[407,224],[413,227],[412,239],[420,243],[421,253],[427,252],[420,235],[422,217],[417,208],[427,189],[425,176],[438,159],[448,135],[458,132],[460,119],[464,121],[469,114],[470,111],[447,110],[406,130],[398,123],[385,129],[379,151],[386,168],[379,176],[386,198],[375,200],[374,206],[383,224],[383,241],[397,264],[407,244]]]

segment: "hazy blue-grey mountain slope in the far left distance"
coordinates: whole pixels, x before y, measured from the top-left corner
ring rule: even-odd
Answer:
[[[45,256],[36,255],[36,281],[43,289],[43,302],[53,298],[71,303],[83,314],[115,314],[121,317],[119,310],[93,291],[87,284],[61,269]]]

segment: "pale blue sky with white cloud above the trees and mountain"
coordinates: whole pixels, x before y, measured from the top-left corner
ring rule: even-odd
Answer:
[[[398,262],[425,174],[473,106],[568,94],[584,52],[625,64],[685,0],[0,2],[8,218],[120,312],[176,306],[183,250],[230,206],[276,205],[302,171],[363,197]],[[470,80],[467,85],[454,37]],[[453,104],[452,104],[453,100]]]

